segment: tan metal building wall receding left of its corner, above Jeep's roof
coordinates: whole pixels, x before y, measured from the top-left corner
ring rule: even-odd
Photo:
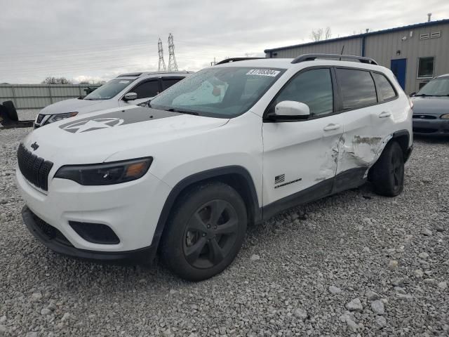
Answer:
[[[274,51],[272,53],[273,58],[295,58],[301,54],[308,53],[326,53],[326,54],[341,54],[342,48],[344,47],[343,53],[349,55],[361,55],[361,39],[345,39],[340,41],[321,43],[321,44],[311,44],[308,46],[300,46],[294,48],[283,49],[280,51]],[[275,55],[276,54],[276,55]],[[267,58],[270,57],[266,54]]]

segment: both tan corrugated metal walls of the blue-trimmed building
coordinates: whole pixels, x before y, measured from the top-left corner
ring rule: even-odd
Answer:
[[[420,39],[421,34],[441,32],[441,37]],[[411,36],[410,36],[411,33]],[[406,38],[406,39],[404,39]],[[337,53],[344,46],[344,54],[361,55],[363,37],[320,42],[272,51],[273,58],[295,58],[305,53]],[[432,24],[424,27],[402,29],[394,32],[368,34],[365,37],[365,55],[374,58],[380,65],[391,68],[391,60],[406,58],[406,93],[418,91],[420,83],[429,79],[418,79],[418,59],[434,56],[434,76],[449,73],[449,24]],[[270,53],[266,54],[270,57]]]

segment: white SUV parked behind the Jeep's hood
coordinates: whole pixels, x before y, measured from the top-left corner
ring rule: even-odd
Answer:
[[[170,88],[192,72],[133,72],[121,74],[84,98],[61,100],[44,107],[36,116],[34,128],[78,114],[143,103]],[[133,95],[135,93],[136,95]]]

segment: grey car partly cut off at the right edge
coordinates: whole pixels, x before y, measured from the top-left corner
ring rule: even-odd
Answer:
[[[411,96],[413,133],[449,136],[449,74],[435,77]]]

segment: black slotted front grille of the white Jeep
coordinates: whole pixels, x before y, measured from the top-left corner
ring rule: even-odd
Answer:
[[[22,143],[17,150],[17,161],[22,175],[33,185],[48,190],[48,173],[53,163],[32,154]]]

